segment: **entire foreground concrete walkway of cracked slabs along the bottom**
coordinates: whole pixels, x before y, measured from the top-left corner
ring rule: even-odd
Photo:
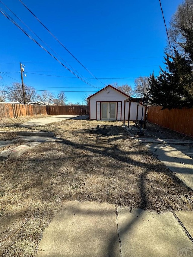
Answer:
[[[192,256],[192,222],[193,212],[69,201],[46,228],[37,257]]]

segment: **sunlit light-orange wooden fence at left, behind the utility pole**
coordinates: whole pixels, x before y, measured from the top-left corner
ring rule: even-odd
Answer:
[[[46,115],[45,105],[0,103],[0,119]]]

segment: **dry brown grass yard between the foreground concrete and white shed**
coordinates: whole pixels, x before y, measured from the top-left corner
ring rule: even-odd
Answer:
[[[0,256],[34,256],[65,200],[193,210],[192,190],[121,124],[65,120],[33,127],[61,138],[0,162]]]

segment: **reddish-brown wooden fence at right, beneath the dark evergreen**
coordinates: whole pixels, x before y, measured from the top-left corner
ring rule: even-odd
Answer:
[[[147,120],[160,126],[193,136],[193,108],[161,109],[161,106],[149,106]]]

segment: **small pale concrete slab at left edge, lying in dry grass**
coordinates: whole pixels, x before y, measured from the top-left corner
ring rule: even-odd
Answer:
[[[29,149],[30,146],[17,146],[10,150],[5,150],[0,153],[0,160],[17,158]]]

